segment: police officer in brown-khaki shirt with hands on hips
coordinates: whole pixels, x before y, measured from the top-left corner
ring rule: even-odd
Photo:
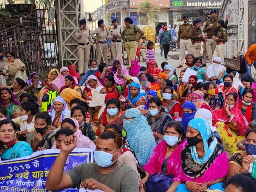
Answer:
[[[122,32],[122,39],[126,42],[125,47],[130,66],[130,61],[135,59],[138,42],[143,37],[144,32],[137,25],[132,25],[133,21],[130,17],[124,18],[124,24],[126,28]],[[139,37],[137,33],[139,33]]]

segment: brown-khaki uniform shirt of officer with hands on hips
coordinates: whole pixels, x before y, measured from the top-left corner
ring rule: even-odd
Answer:
[[[139,33],[139,38],[137,36]],[[141,39],[144,35],[144,32],[137,25],[130,25],[130,27],[126,27],[122,32],[122,39],[125,41],[129,40],[137,40]]]

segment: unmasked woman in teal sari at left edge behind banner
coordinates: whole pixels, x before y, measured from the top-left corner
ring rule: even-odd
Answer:
[[[0,121],[0,158],[10,160],[29,156],[33,153],[30,144],[15,138],[16,126],[9,119]],[[2,153],[1,153],[2,152]]]

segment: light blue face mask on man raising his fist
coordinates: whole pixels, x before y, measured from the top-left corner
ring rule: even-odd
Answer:
[[[118,151],[118,150],[117,150]],[[117,153],[116,151],[116,153]],[[94,159],[95,159],[95,162],[98,166],[100,167],[109,167],[111,165],[114,164],[114,162],[117,161],[114,160],[114,162],[112,162],[112,157],[116,154],[114,153],[113,155],[110,154],[110,153],[107,153],[105,151],[95,151],[94,153]]]

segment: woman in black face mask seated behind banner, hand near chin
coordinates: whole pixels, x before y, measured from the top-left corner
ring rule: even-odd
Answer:
[[[38,113],[35,117],[34,129],[28,133],[26,142],[28,142],[33,151],[52,148],[55,142],[55,133],[50,129],[52,124],[48,113]]]

